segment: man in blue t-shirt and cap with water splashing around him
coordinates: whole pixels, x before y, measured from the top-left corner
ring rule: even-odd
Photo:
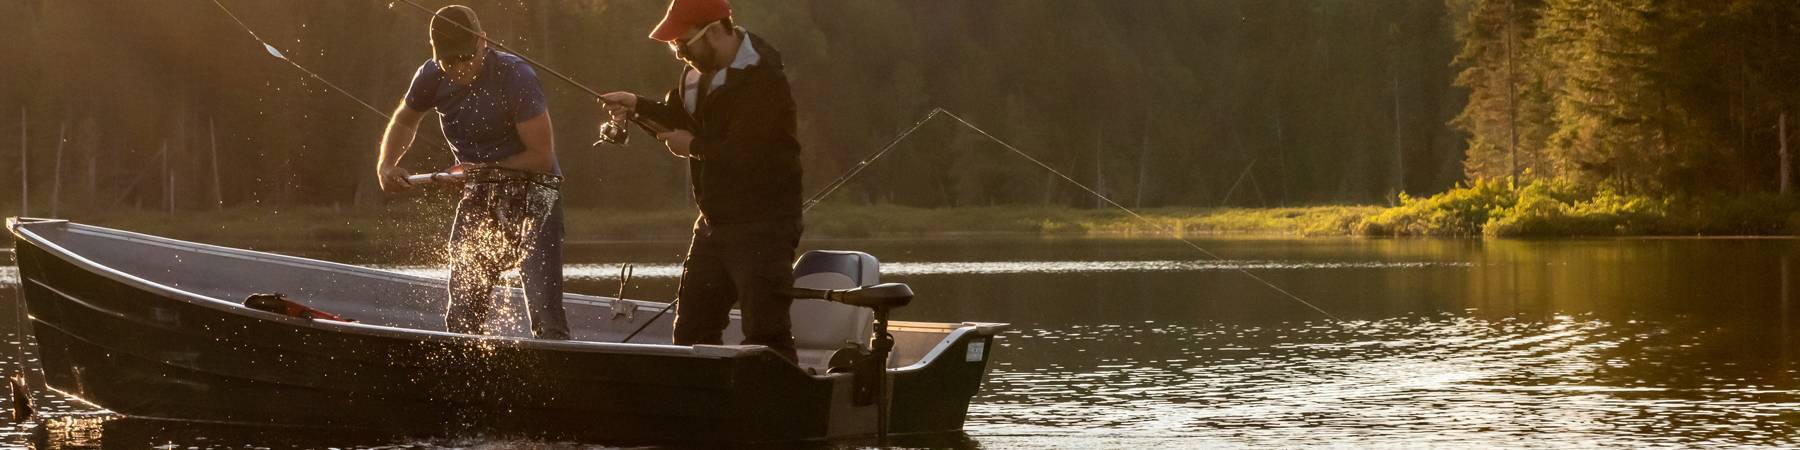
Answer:
[[[432,59],[412,76],[382,137],[382,191],[410,187],[400,158],[436,110],[457,166],[463,200],[450,229],[450,306],[445,328],[482,333],[500,274],[518,266],[531,333],[569,338],[562,308],[562,169],[538,76],[518,56],[490,50],[475,11],[446,5],[432,18]]]

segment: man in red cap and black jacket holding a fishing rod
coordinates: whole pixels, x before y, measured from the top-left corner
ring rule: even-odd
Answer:
[[[799,247],[799,140],[781,54],[734,27],[727,0],[673,0],[650,32],[682,68],[680,85],[652,101],[603,95],[612,121],[637,121],[688,160],[700,218],[682,263],[675,344],[724,344],[733,302],[743,344],[794,356],[790,265]]]

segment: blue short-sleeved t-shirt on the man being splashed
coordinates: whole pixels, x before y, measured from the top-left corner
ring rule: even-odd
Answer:
[[[499,162],[526,151],[515,124],[547,108],[531,65],[499,50],[482,58],[481,76],[468,86],[452,83],[436,59],[427,59],[407,88],[407,108],[437,110],[457,162]]]

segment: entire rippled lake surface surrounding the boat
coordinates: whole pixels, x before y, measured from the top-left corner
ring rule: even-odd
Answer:
[[[965,436],[918,446],[1796,446],[1789,239],[808,241],[884,259],[900,320],[1012,322]],[[684,243],[569,250],[571,290],[673,295]],[[441,274],[401,248],[290,254]],[[1247,270],[1339,319],[1240,274]],[[11,266],[0,284],[16,284]],[[0,290],[4,302],[16,292]],[[5,310],[11,313],[11,310]],[[4,329],[13,333],[11,320]],[[16,338],[13,338],[16,342]],[[18,355],[4,351],[7,364]],[[513,446],[117,419],[47,396],[7,445]],[[398,414],[398,412],[396,412]],[[578,446],[574,443],[562,443]],[[841,443],[859,445],[859,443]]]

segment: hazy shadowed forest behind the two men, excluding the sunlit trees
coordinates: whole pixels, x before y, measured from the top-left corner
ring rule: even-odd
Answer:
[[[430,56],[428,16],[405,4],[223,4],[283,54],[378,108],[396,104]],[[598,90],[661,95],[679,70],[664,45],[644,38],[659,2],[468,4],[490,36]],[[212,2],[9,5],[23,11],[0,16],[16,36],[0,43],[9,67],[0,99],[11,106],[0,130],[16,137],[20,113],[29,117],[25,160],[40,209],[58,176],[59,202],[72,209],[167,209],[169,198],[176,211],[382,202],[371,167],[383,121],[270,58]],[[1453,85],[1458,47],[1442,2],[734,7],[788,65],[808,189],[932,108],[1129,205],[1381,202],[1462,180],[1465,139],[1449,121],[1465,90]],[[589,148],[596,103],[540,77],[572,205],[688,202],[679,160],[643,135],[626,149]],[[432,130],[421,135],[441,142]],[[20,148],[0,151],[0,171],[20,173]],[[409,164],[439,167],[443,153],[419,146]],[[18,184],[0,189],[18,203]],[[941,119],[830,202],[1094,205]]]

